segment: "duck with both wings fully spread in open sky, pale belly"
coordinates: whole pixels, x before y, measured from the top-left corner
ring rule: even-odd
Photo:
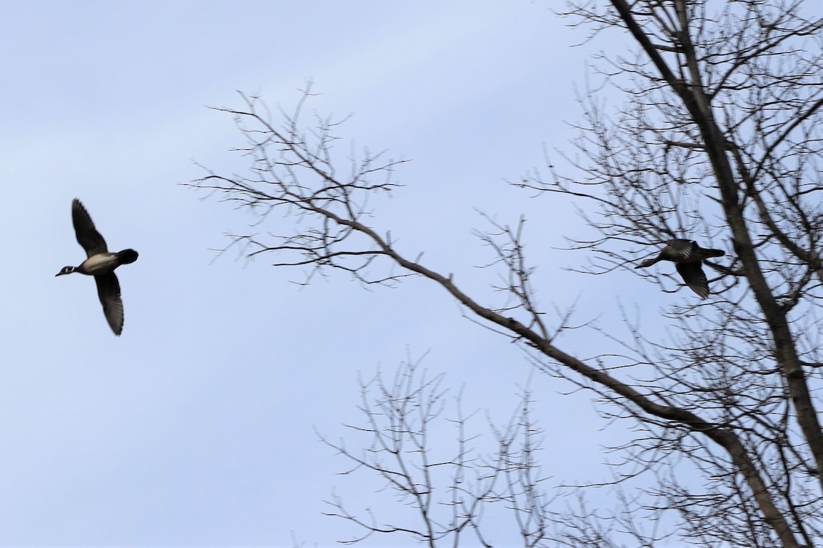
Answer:
[[[77,234],[77,243],[86,250],[87,258],[80,266],[64,266],[56,275],[79,272],[94,276],[105,319],[109,321],[114,334],[120,336],[123,332],[123,301],[120,299],[120,283],[114,275],[114,269],[137,260],[137,251],[124,249],[118,253],[109,253],[109,248],[97,232],[89,212],[77,198],[72,200],[72,223]]]

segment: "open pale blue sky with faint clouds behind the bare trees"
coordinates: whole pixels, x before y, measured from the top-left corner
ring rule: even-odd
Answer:
[[[579,297],[581,320],[608,320],[616,297],[651,294],[625,273],[565,272],[585,263],[553,250],[584,233],[570,202],[504,183],[542,166],[544,144],[570,150],[573,85],[604,47],[570,48],[583,36],[554,3],[7,2],[0,545],[289,546],[294,532],[332,546],[355,534],[322,515],[332,487],[352,508],[394,510],[374,485],[336,476],[347,463],[312,430],[346,434],[358,371],[431,349],[425,366],[455,392],[465,385],[468,410],[503,421],[517,403],[523,353],[425,280],[367,292],[333,275],[299,288],[300,271],[267,256],[216,259],[223,234],[253,218],[178,183],[202,175],[192,160],[245,167],[227,152],[243,143],[230,117],[205,108],[239,106],[235,90],[290,109],[313,78],[310,108],[354,113],[342,136],[412,159],[398,172],[407,187],[373,203],[373,226],[483,304],[502,302],[495,271],[474,268],[490,259],[474,208],[501,223],[527,215],[546,310]],[[74,197],[109,248],[140,252],[119,269],[121,338],[91,279],[54,278],[83,258]],[[645,317],[671,298],[649,297]],[[607,351],[586,337],[564,348]],[[588,394],[561,396],[571,386],[542,375],[532,386],[546,473],[608,479],[600,447],[620,432],[598,430]],[[511,541],[510,522],[496,528]],[[399,541],[411,544],[366,546]]]

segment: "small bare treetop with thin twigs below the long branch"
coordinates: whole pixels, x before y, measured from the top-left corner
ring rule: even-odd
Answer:
[[[409,357],[391,382],[381,371],[368,381],[360,380],[363,423],[347,425],[360,438],[365,436],[356,449],[349,449],[346,440],[335,442],[320,435],[351,463],[343,475],[376,475],[384,483],[383,493],[412,509],[412,515],[398,518],[402,523],[386,523],[387,518],[370,508],[350,511],[341,496],[332,494],[328,515],[354,523],[362,532],[343,542],[362,541],[374,533],[400,533],[427,546],[458,546],[466,535],[480,546],[493,546],[483,532],[484,507],[503,503],[514,510],[524,546],[538,546],[549,523],[548,500],[536,458],[542,433],[530,417],[530,392],[523,390],[519,408],[504,426],[492,427],[498,449],[485,455],[473,445],[477,436],[467,433],[467,423],[476,413],[463,415],[460,395],[449,405],[444,375],[428,378],[428,371],[420,371],[421,361]],[[431,446],[430,425],[439,420],[453,426],[453,448]]]

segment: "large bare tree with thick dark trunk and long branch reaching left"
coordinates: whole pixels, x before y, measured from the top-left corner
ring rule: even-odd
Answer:
[[[508,274],[501,289],[514,305],[484,306],[450,274],[402,255],[390,233],[370,226],[367,207],[374,193],[396,188],[400,162],[365,153],[351,174],[338,173],[336,122],[317,119],[304,129],[302,103],[280,113],[279,124],[258,98],[221,109],[236,117],[251,171],[209,173],[193,184],[263,217],[286,210],[303,221],[266,241],[235,236],[249,256],[272,253],[277,265],[312,273],[343,269],[362,283],[430,279],[475,320],[522,343],[537,367],[593,390],[607,402],[604,412],[636,421],[639,435],[622,449],[659,481],[649,496],[625,499],[626,515],[677,517],[664,534],[629,523],[641,545],[674,536],[701,546],[816,546],[823,542],[823,430],[813,395],[823,364],[816,320],[823,20],[807,12],[814,7],[802,0],[568,4],[565,16],[589,25],[590,35],[625,31],[634,39],[636,56],[599,59],[600,74],[625,93],[625,108],[603,112],[591,92],[581,94],[576,145],[584,160],[572,162],[581,170],[571,177],[550,167],[546,177],[531,173],[515,184],[588,200],[584,219],[599,237],[573,246],[591,251],[589,273],[634,271],[640,256],[672,238],[730,244],[728,259],[706,261],[714,297],[666,312],[677,327],[666,344],[627,316],[630,339],[607,333],[612,348],[600,356],[564,348],[564,320],[549,325],[534,298],[522,225],[481,235]],[[637,272],[675,290],[667,269]],[[683,463],[700,472],[698,484],[678,480],[674,467]],[[555,541],[612,546],[591,513],[573,514],[565,519],[573,530]]]

